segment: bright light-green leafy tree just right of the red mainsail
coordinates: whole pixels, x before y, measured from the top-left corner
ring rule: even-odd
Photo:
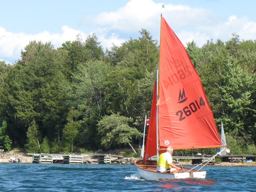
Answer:
[[[222,101],[220,109],[224,116],[221,116],[219,121],[232,127],[230,133],[249,139],[250,135],[246,134],[245,125],[248,114],[255,113],[255,110],[251,109],[254,102],[251,98],[253,76],[242,70],[233,58],[230,58],[225,67],[226,71],[222,75],[224,85],[219,87]]]

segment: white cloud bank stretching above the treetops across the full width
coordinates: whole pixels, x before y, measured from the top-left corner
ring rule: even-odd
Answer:
[[[192,8],[183,5],[154,3],[153,0],[130,0],[116,12],[102,12],[99,15],[81,16],[80,21],[74,21],[81,26],[80,30],[63,25],[60,33],[42,31],[37,34],[9,32],[0,26],[0,60],[17,61],[20,51],[29,44],[29,41],[51,42],[55,48],[60,47],[65,41],[74,41],[80,34],[96,33],[103,48],[110,48],[112,44],[121,45],[129,38],[140,36],[141,28],[147,29],[153,39],[160,37],[160,14],[166,18],[169,25],[180,38],[184,45],[192,40],[203,46],[207,40],[228,41],[232,33],[240,39],[255,39],[256,22],[247,17],[230,15],[223,18],[210,10]],[[87,30],[84,32],[84,30]]]

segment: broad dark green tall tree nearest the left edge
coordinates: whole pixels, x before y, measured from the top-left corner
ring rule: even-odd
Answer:
[[[50,43],[30,42],[22,52],[22,60],[6,76],[2,113],[8,117],[9,136],[20,145],[26,143],[26,131],[33,119],[50,140],[64,127],[68,110],[66,90],[61,87],[66,82],[61,56]]]

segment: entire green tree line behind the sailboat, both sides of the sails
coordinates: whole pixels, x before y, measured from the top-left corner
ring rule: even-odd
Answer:
[[[192,41],[186,49],[227,144],[254,150],[256,41],[233,34],[227,42],[200,48]],[[145,29],[105,50],[94,33],[57,49],[31,41],[15,64],[0,61],[0,148],[134,150],[142,145],[158,60],[158,42]]]

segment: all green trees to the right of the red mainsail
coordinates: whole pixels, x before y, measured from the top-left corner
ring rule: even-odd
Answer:
[[[255,43],[243,42],[242,47],[246,47],[248,51],[246,45],[250,46],[249,52],[256,50]],[[241,42],[236,34],[226,45],[221,41],[216,44],[208,42],[198,54],[197,68],[216,122],[223,122],[226,133],[255,143],[256,76],[251,73],[253,63],[250,62],[253,60],[242,59],[242,52]]]

